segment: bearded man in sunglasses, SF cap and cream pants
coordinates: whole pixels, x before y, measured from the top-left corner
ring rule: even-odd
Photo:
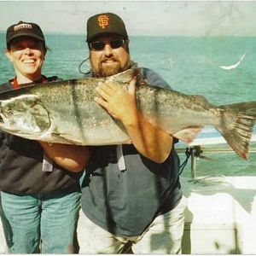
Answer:
[[[123,20],[111,13],[87,21],[90,76],[105,77],[134,66]],[[143,68],[149,84],[169,87]],[[79,218],[80,253],[180,253],[184,209],[174,138],[137,110],[136,85],[108,82],[98,102],[119,119],[132,144],[92,147],[83,181]]]

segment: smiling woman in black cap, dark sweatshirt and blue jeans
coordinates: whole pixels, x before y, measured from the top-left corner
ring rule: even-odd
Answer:
[[[37,24],[9,26],[6,43],[15,78],[0,91],[58,79],[41,73],[47,47]],[[75,253],[79,177],[88,157],[85,147],[0,131],[0,213],[9,253]]]

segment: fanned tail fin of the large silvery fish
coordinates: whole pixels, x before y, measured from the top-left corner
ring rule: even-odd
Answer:
[[[233,125],[224,125],[218,128],[230,147],[243,159],[248,159],[248,148],[253,135],[253,125],[256,119],[256,102],[236,103],[222,106],[231,108],[233,112]],[[226,120],[226,122],[230,122]],[[227,127],[231,127],[228,129]]]

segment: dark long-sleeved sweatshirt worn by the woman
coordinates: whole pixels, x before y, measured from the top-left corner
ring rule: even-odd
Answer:
[[[13,90],[10,82],[0,86],[0,92],[5,90]],[[44,150],[37,141],[0,130],[0,190],[17,195],[79,191],[79,173],[55,163],[53,172],[43,172],[43,159]]]

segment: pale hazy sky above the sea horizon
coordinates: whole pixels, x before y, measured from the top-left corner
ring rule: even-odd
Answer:
[[[256,36],[256,1],[0,0],[0,31],[23,20],[44,33],[85,34],[102,12],[122,17],[130,36]]]

